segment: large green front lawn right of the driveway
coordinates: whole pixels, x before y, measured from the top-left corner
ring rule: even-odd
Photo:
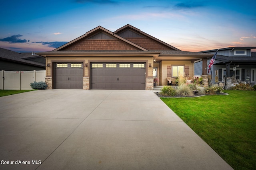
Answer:
[[[235,170],[256,169],[256,91],[161,98]]]

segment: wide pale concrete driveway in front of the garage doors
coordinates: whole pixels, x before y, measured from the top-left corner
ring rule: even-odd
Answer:
[[[17,170],[232,169],[145,90],[0,97],[0,160],[0,169]]]

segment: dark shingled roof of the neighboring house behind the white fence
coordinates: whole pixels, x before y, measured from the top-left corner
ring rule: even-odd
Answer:
[[[30,56],[28,55],[28,53],[17,53],[15,51],[0,48],[0,59],[2,59],[2,60],[12,61],[15,63],[23,63],[23,64],[28,64],[28,65],[39,66],[39,67],[45,68],[44,63],[28,60],[28,58],[30,58],[30,57],[41,57],[41,56],[38,56],[38,55],[31,56],[31,53],[29,53],[29,54],[30,54]]]

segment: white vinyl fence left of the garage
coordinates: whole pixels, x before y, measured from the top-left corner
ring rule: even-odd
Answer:
[[[30,83],[45,81],[45,70],[0,70],[0,90],[32,90]]]

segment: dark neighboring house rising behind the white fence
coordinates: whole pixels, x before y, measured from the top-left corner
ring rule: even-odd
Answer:
[[[0,48],[0,70],[45,70],[45,59],[35,53],[17,53],[8,49]]]

